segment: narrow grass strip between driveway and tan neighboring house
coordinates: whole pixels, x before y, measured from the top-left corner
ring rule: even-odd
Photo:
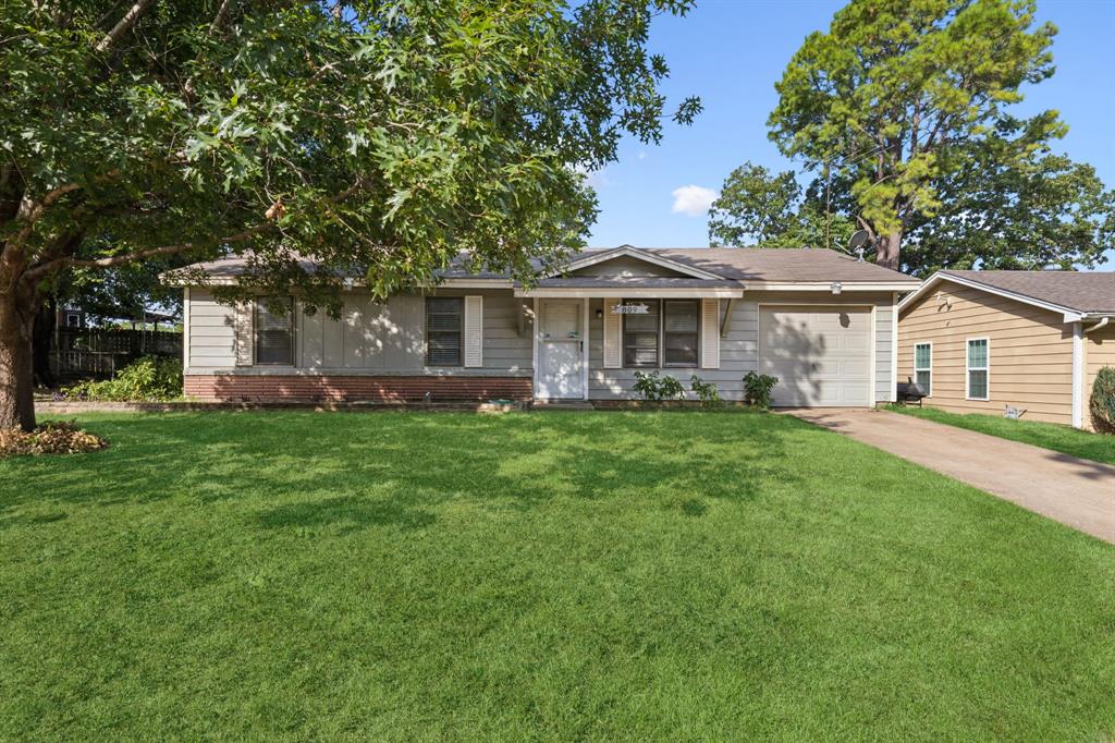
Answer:
[[[1019,441],[1070,456],[1115,464],[1115,436],[1078,431],[1055,423],[1011,421],[1001,415],[949,413],[933,407],[905,407],[902,405],[890,405],[889,409],[937,423],[946,423],[958,428],[978,431],[999,438]]]

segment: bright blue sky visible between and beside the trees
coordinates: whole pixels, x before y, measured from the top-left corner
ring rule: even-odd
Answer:
[[[658,146],[624,142],[620,162],[592,175],[601,213],[590,244],[707,245],[705,214],[671,211],[675,190],[719,190],[745,160],[792,167],[767,139],[766,118],[776,105],[774,84],[805,36],[827,29],[842,4],[697,0],[686,18],[657,19],[651,48],[670,65],[666,94],[675,103],[698,95],[705,113],[692,126],[668,125]],[[1016,110],[1059,110],[1069,133],[1055,147],[1090,163],[1108,187],[1115,186],[1115,0],[1038,0],[1038,17],[1059,29],[1053,47],[1057,74],[1029,87]]]

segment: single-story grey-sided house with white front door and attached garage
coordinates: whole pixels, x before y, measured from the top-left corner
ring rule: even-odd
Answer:
[[[231,283],[242,259],[203,263]],[[173,274],[168,277],[174,280]],[[827,250],[589,250],[524,288],[443,272],[426,293],[377,303],[359,286],[339,321],[297,297],[235,308],[185,290],[185,393],[200,399],[637,397],[636,373],[727,399],[743,377],[779,378],[777,405],[894,399],[895,306],[919,282]]]

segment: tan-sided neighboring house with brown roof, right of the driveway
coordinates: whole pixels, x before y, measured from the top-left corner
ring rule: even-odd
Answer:
[[[1088,427],[1113,316],[1109,271],[939,271],[899,308],[899,376],[933,407]]]

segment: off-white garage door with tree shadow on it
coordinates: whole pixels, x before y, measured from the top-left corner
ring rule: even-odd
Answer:
[[[870,308],[760,308],[758,350],[775,405],[872,404]]]

